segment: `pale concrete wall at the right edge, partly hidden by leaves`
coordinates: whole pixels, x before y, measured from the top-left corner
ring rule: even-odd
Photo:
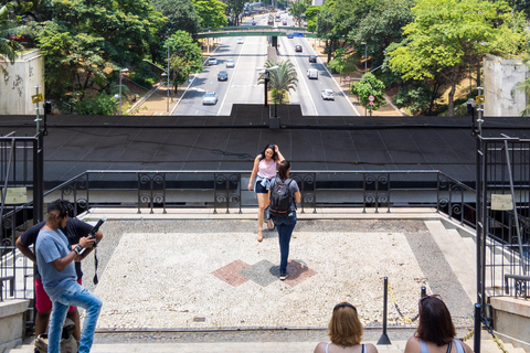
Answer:
[[[487,54],[484,58],[484,116],[518,117],[529,104],[524,93],[511,95],[513,86],[530,77],[521,60],[502,58]]]

